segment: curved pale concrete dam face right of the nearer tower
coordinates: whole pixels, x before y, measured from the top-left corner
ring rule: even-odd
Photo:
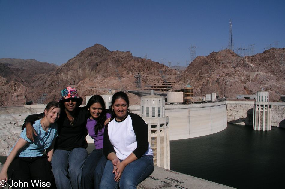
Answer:
[[[165,115],[169,117],[170,140],[205,136],[227,127],[226,101],[165,105]]]

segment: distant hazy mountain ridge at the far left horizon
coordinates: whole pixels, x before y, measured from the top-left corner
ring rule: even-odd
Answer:
[[[17,73],[25,83],[30,83],[35,75],[46,74],[56,69],[56,66],[35,59],[0,58],[0,62]],[[0,75],[1,76],[1,75]]]

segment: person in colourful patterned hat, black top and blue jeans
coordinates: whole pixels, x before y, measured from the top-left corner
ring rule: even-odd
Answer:
[[[77,189],[81,187],[82,167],[88,156],[86,150],[88,144],[85,138],[88,114],[84,107],[79,107],[83,100],[74,87],[69,86],[61,90],[61,96],[58,102],[64,111],[57,121],[58,137],[52,157],[52,172],[58,189]],[[27,130],[29,125],[27,122],[34,122],[37,117],[36,114],[26,118]]]

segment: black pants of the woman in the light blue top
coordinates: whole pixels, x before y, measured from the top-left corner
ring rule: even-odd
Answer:
[[[11,188],[56,188],[47,155],[16,157],[10,164],[7,174]]]

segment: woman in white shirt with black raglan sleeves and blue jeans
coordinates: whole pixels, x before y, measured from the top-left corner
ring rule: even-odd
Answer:
[[[128,111],[126,93],[113,95],[113,120],[105,127],[103,152],[108,159],[100,188],[137,188],[154,170],[148,125]]]

